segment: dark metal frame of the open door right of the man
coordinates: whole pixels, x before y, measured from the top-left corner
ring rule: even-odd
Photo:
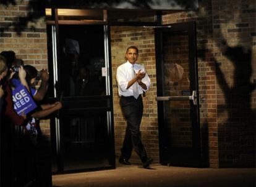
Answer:
[[[163,25],[165,28],[155,29],[155,49],[156,49],[156,82],[157,82],[157,95],[163,95],[163,54],[162,54],[162,33],[173,31],[188,31],[189,36],[189,71],[190,71],[190,89],[197,90],[198,98],[198,67],[197,67],[197,37],[195,22],[186,23],[174,23],[171,25]],[[192,93],[192,90],[190,90]],[[199,113],[199,101],[196,101],[197,105],[190,105],[190,114],[192,119],[192,149],[197,157],[195,165],[200,166],[201,160],[201,145],[200,145],[200,113]],[[160,145],[160,163],[168,164],[166,156],[163,153],[163,146],[165,145],[163,137],[163,125],[164,125],[164,107],[163,101],[158,101],[158,130],[159,130],[159,145]]]

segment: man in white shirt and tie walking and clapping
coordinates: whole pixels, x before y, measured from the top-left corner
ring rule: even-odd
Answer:
[[[117,68],[116,79],[118,94],[121,97],[120,105],[124,117],[127,120],[126,135],[121,149],[119,162],[130,165],[129,159],[132,148],[139,154],[143,167],[148,168],[153,159],[147,157],[147,153],[140,137],[140,122],[143,115],[143,92],[150,87],[150,78],[145,73],[142,65],[136,63],[139,50],[130,46],[126,50],[127,62]]]

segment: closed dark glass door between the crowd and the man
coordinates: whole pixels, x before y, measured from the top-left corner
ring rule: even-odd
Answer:
[[[48,26],[52,96],[63,104],[51,121],[53,172],[114,167],[107,36],[104,25]]]

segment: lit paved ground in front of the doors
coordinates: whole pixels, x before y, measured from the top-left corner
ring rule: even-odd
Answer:
[[[255,169],[198,169],[153,164],[119,166],[114,170],[53,176],[54,187],[82,186],[177,186],[255,187]]]

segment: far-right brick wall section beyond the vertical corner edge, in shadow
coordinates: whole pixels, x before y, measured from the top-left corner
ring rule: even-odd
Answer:
[[[255,166],[255,101],[251,95],[255,5],[255,1],[213,0],[220,167]]]

